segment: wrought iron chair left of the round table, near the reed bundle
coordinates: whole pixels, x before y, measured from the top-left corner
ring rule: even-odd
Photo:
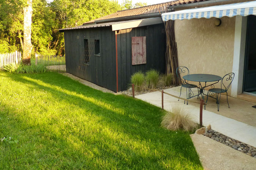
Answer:
[[[186,90],[187,90],[187,99],[190,99],[190,97],[192,97],[194,95],[191,88],[196,88],[197,86],[194,85],[194,84],[188,84],[187,82],[185,82],[185,80],[181,78],[180,74],[183,74],[184,76],[188,75],[189,74],[188,68],[185,67],[185,66],[179,66],[176,69],[176,75],[177,75],[177,80],[181,80],[181,89],[182,89],[182,87],[186,88]],[[181,93],[179,94],[179,97],[181,97]],[[198,96],[197,96],[197,99],[198,99]],[[185,104],[185,100],[184,100],[184,104]],[[188,101],[187,101],[187,104],[188,104]]]

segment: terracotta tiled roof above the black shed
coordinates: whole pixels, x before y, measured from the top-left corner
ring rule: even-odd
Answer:
[[[139,8],[133,8],[133,9],[126,9],[123,11],[117,11],[113,14],[106,15],[104,17],[100,17],[95,20],[91,20],[89,22],[83,23],[85,24],[91,24],[94,23],[95,21],[99,20],[106,20],[106,19],[118,19],[120,17],[128,17],[128,16],[133,16],[133,15],[143,15],[143,14],[151,14],[151,13],[157,13],[167,10],[167,6],[178,6],[178,5],[185,5],[188,3],[196,3],[196,2],[203,2],[207,0],[174,0],[171,2],[165,2],[165,3],[159,3],[159,4],[154,4],[154,5],[148,5],[148,6],[143,6]]]

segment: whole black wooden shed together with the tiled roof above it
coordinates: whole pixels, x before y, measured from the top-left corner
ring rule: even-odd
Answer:
[[[150,69],[165,73],[166,35],[161,14],[173,2],[117,11],[64,32],[66,71],[112,91]]]

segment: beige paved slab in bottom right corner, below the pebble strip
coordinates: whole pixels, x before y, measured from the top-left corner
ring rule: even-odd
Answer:
[[[256,158],[201,134],[190,135],[205,170],[255,170]]]

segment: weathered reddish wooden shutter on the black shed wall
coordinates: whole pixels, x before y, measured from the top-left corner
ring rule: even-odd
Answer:
[[[146,64],[146,37],[132,37],[132,65]]]

